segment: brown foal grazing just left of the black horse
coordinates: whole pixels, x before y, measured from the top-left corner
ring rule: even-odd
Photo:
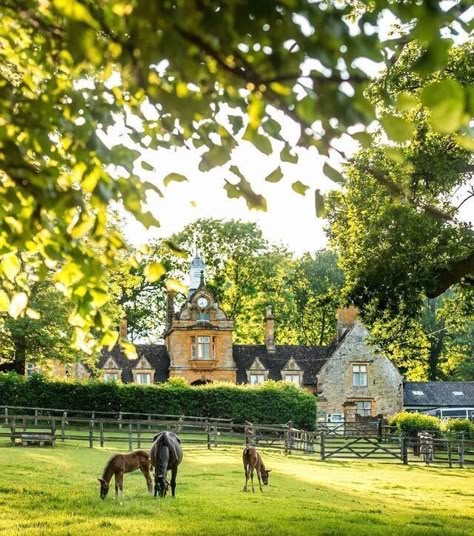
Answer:
[[[120,496],[123,499],[123,475],[136,471],[137,469],[140,469],[143,473],[148,491],[151,493],[153,489],[153,481],[150,474],[151,467],[150,456],[144,450],[136,450],[129,454],[115,454],[107,462],[102,478],[97,479],[100,482],[100,498],[105,499],[107,497],[109,483],[112,476],[115,476],[115,498],[117,498],[120,490]]]

